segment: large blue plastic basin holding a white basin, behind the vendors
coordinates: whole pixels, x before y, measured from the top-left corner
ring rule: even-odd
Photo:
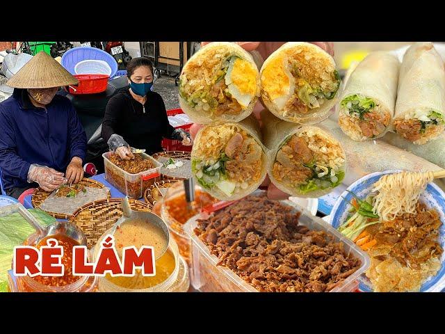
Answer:
[[[69,49],[63,54],[60,63],[68,72],[74,75],[76,74],[76,72],[74,72],[76,63],[79,63],[79,61],[86,61],[87,59],[106,61],[111,67],[110,78],[114,77],[116,72],[118,72],[118,63],[116,63],[115,58],[106,51],[97,49],[97,47],[74,47]]]

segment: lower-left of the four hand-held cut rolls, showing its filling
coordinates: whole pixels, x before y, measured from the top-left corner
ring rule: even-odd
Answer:
[[[266,153],[253,115],[200,129],[191,152],[195,180],[219,200],[252,193],[266,177]]]

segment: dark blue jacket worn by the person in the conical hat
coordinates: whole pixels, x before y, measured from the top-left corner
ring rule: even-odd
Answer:
[[[24,89],[0,103],[0,168],[3,188],[24,187],[31,164],[65,173],[72,157],[86,156],[86,134],[66,97],[47,110],[35,107]]]

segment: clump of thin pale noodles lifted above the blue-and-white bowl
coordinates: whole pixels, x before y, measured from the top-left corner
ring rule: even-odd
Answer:
[[[401,172],[384,175],[375,182],[373,212],[382,221],[392,221],[402,214],[414,214],[416,203],[426,185],[434,180],[433,172]]]

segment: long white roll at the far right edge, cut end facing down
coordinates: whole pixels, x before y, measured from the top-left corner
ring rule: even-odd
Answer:
[[[437,138],[445,129],[445,70],[431,42],[407,49],[398,81],[395,132],[417,145]]]

